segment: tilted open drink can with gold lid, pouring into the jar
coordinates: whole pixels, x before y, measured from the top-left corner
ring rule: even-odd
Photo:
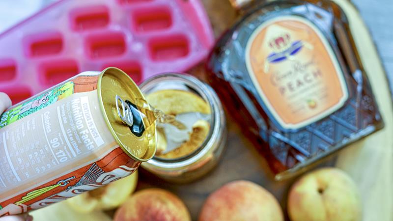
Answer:
[[[155,119],[123,71],[83,72],[0,116],[0,217],[132,174],[156,150]]]

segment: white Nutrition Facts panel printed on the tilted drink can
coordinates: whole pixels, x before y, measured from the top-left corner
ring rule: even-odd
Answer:
[[[71,95],[0,129],[0,193],[113,142],[105,127],[97,93],[91,91]]]

